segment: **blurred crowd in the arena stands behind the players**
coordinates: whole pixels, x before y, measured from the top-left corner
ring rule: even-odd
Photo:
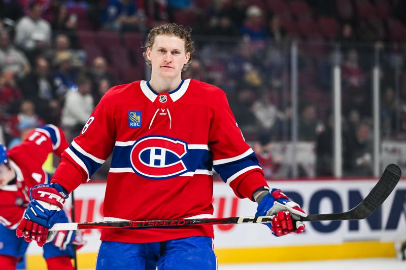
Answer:
[[[184,78],[226,92],[267,177],[283,171],[273,143],[292,134],[293,40],[298,137],[315,142],[316,175],[332,176],[331,69],[340,65],[344,169],[368,176],[376,64],[382,137],[406,135],[404,14],[401,0],[0,0],[0,141],[12,147],[44,123],[72,140],[111,86],[147,79],[149,29],[177,22],[193,28],[197,47]]]

